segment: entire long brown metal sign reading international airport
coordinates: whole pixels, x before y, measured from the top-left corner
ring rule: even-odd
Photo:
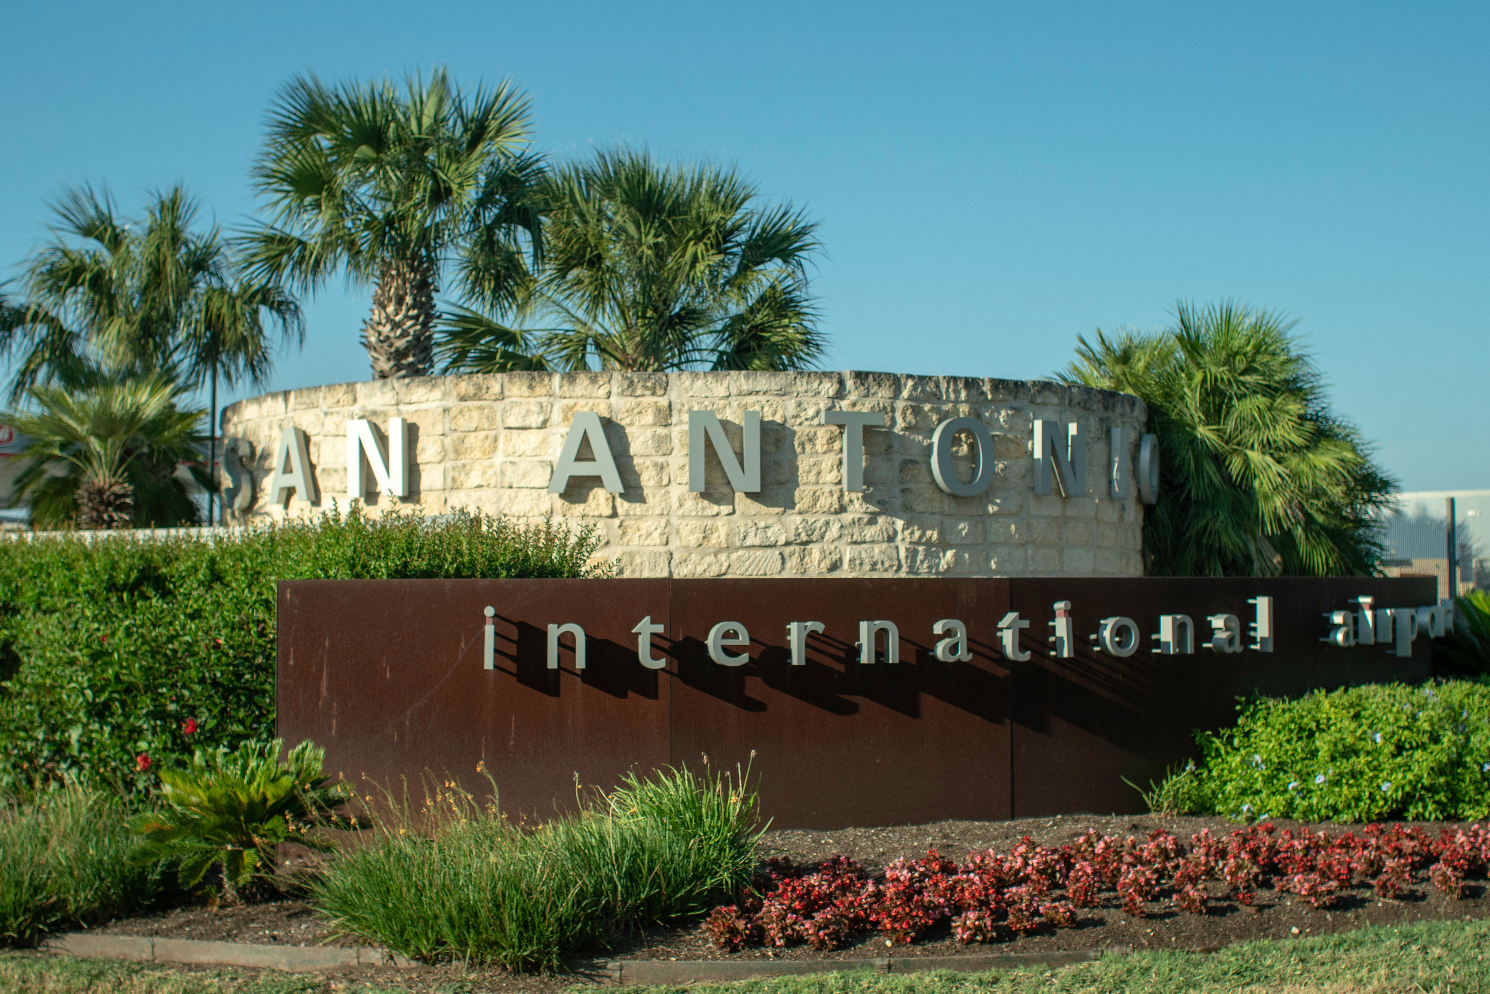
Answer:
[[[279,584],[279,735],[326,748],[332,772],[402,790],[426,775],[484,790],[510,814],[572,806],[575,785],[629,769],[749,763],[776,827],[916,824],[1061,812],[1137,812],[1123,778],[1147,784],[1195,756],[1195,729],[1235,718],[1237,697],[1298,694],[1432,671],[1413,656],[1320,641],[1329,611],[1426,607],[1433,578],[1196,580],[297,580]],[[1274,651],[1216,654],[1205,618],[1271,596]],[[1071,602],[1076,651],[1052,657],[1053,605]],[[484,608],[496,611],[495,668],[483,665]],[[998,623],[1030,621],[1027,662]],[[1161,614],[1195,621],[1195,653],[1164,656]],[[665,669],[638,660],[638,621]],[[1101,618],[1137,623],[1138,651],[1097,651]],[[940,662],[933,624],[967,626],[971,659]],[[890,620],[900,662],[861,663],[860,621]],[[741,666],[705,639],[736,621]],[[793,666],[787,624],[820,621]],[[548,624],[580,624],[547,666]],[[882,648],[882,647],[881,647]],[[882,654],[882,651],[881,651]],[[754,754],[754,759],[752,759]]]

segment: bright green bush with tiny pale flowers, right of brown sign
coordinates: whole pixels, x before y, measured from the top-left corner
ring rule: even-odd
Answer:
[[[1490,815],[1490,686],[1381,684],[1261,697],[1199,736],[1204,766],[1155,796],[1179,814],[1304,821]]]

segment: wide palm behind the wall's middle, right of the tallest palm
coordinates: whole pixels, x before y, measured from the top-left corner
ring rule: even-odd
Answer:
[[[554,328],[523,340],[487,319],[501,361],[526,350],[571,370],[797,370],[822,355],[806,279],[817,224],[757,204],[733,170],[620,149],[553,171],[538,195],[539,279],[514,311]],[[469,352],[478,323],[463,311],[447,340]],[[454,349],[451,358],[453,368],[478,368]]]

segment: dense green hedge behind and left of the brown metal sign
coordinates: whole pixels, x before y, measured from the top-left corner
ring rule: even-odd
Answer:
[[[139,793],[150,766],[274,738],[276,580],[581,577],[596,545],[551,523],[356,505],[215,541],[6,542],[0,790],[67,776]]]

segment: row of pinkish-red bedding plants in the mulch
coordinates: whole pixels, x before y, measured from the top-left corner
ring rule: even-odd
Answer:
[[[1269,888],[1311,908],[1371,888],[1399,897],[1433,887],[1463,897],[1468,878],[1490,869],[1490,832],[1369,824],[1354,832],[1275,830],[1271,823],[1208,830],[1182,842],[1158,829],[1146,839],[1088,832],[1059,848],[1028,838],[1007,854],[988,849],[955,863],[936,849],[895,860],[875,876],[846,857],[821,863],[764,863],[733,905],[715,908],[703,931],[721,949],[809,945],[834,949],[879,933],[910,943],[946,925],[960,942],[1003,942],[1070,928],[1083,909],[1118,906],[1134,918],[1161,912],[1204,915],[1216,902],[1253,905]]]

